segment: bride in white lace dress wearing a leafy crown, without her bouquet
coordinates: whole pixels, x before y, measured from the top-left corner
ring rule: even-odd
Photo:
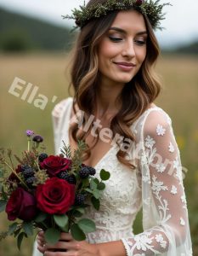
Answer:
[[[62,233],[49,245],[40,232],[34,255],[192,255],[172,121],[154,104],[160,93],[154,30],[163,6],[153,0],[90,0],[74,10],[81,29],[71,68],[75,95],[54,108],[55,148],[58,154],[64,140],[74,150],[77,139],[84,139],[84,163],[96,172],[105,168],[110,180],[99,211],[86,212],[97,228],[86,241]],[[141,207],[144,231],[134,235]]]

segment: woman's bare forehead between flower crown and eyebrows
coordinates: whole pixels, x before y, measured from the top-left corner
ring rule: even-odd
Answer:
[[[120,27],[130,32],[146,31],[143,15],[134,9],[118,12],[111,26]]]

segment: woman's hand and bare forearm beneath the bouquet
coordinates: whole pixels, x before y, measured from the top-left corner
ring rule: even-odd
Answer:
[[[37,248],[44,256],[99,256],[97,245],[76,241],[69,233],[61,233],[59,241],[52,245],[45,244],[43,232],[40,232]]]

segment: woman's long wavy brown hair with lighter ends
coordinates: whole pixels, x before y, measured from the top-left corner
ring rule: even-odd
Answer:
[[[90,0],[88,6],[104,2],[104,0]],[[88,137],[92,129],[91,126],[85,132],[83,131],[83,125],[86,124],[90,115],[94,113],[96,87],[99,81],[97,49],[101,38],[109,30],[117,13],[118,11],[115,11],[99,19],[90,20],[86,26],[82,27],[76,40],[71,67],[71,85],[75,93],[73,111],[76,113],[75,104],[77,104],[78,108],[84,112],[81,129],[79,129],[78,124],[73,124],[70,128],[71,136],[76,142],[80,139],[86,141],[86,137]],[[122,93],[117,99],[122,102],[122,107],[110,121],[110,129],[113,132],[113,136],[117,133],[131,141],[135,141],[135,138],[130,126],[144,113],[150,103],[155,101],[161,90],[161,85],[153,71],[159,55],[159,45],[150,21],[146,16],[144,16],[144,21],[148,33],[146,57],[142,67],[139,69],[139,73],[123,87]],[[99,137],[97,137],[93,147],[98,140]],[[119,143],[117,142],[117,144]],[[88,147],[84,154],[84,160],[88,159],[93,147]],[[120,148],[116,154],[117,159],[122,164],[133,168],[133,164],[126,159],[126,154],[126,151]]]

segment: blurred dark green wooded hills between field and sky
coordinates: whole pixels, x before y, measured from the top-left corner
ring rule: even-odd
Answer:
[[[42,20],[0,9],[0,50],[71,49],[75,33],[71,28],[54,26]],[[198,41],[165,53],[198,55]]]

